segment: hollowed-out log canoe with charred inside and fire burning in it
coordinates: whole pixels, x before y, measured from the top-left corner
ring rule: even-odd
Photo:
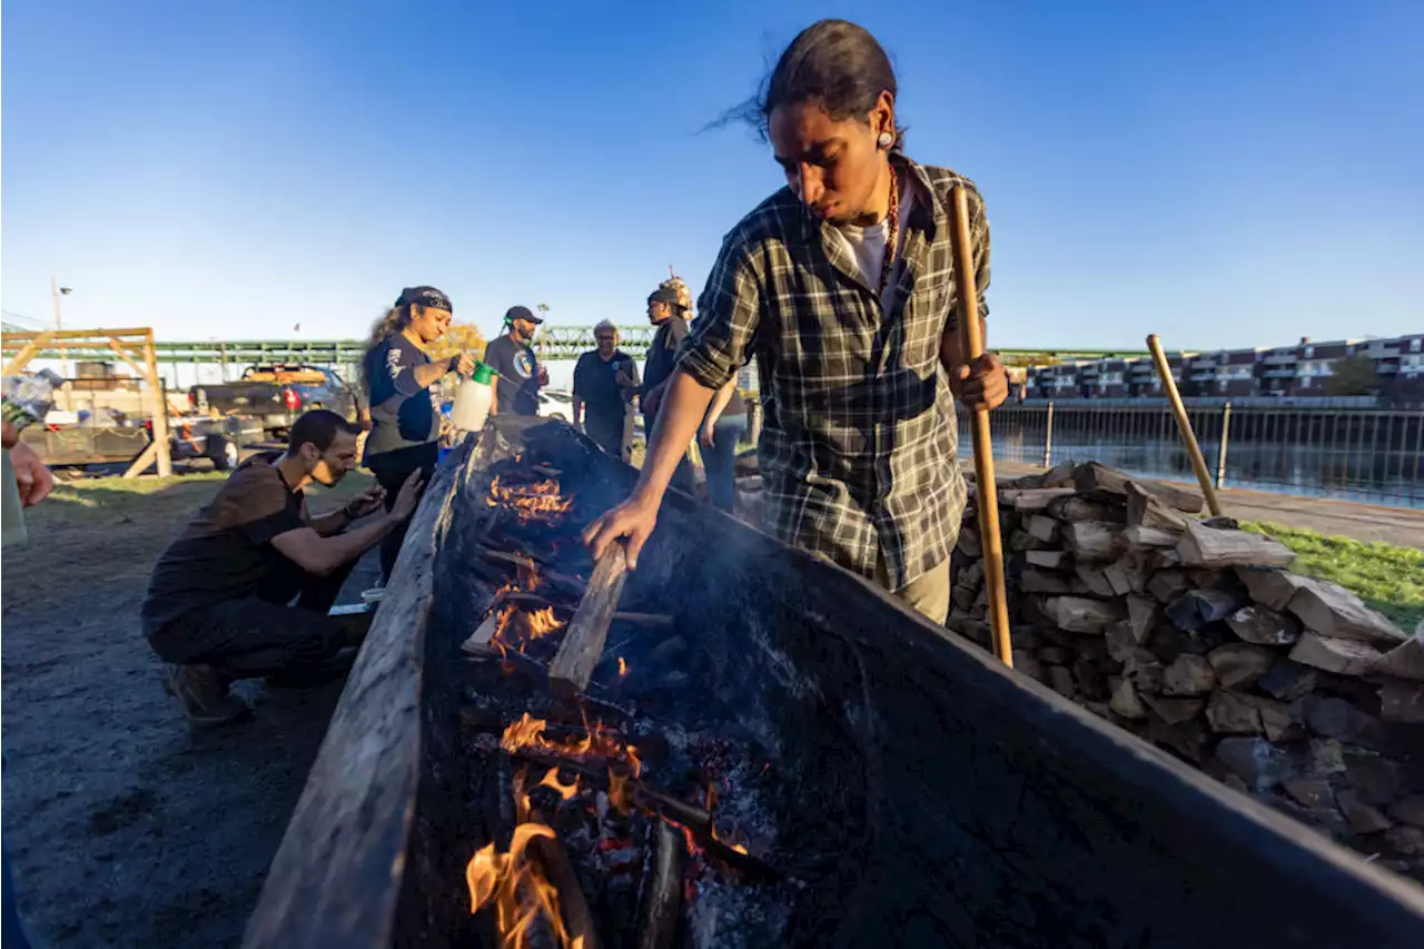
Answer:
[[[558,422],[447,459],[248,949],[1418,943],[1411,885],[711,507],[595,573],[634,479]]]

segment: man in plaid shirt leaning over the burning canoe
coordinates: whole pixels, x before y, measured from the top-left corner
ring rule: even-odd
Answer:
[[[894,95],[854,24],[823,20],[782,54],[756,111],[787,187],[723,239],[638,487],[588,530],[595,556],[627,536],[637,561],[676,446],[755,356],[765,529],[944,623],[965,499],[954,398],[994,408],[1008,382],[994,356],[961,356],[956,321],[950,191],[970,194],[981,313],[984,202],[899,151]]]

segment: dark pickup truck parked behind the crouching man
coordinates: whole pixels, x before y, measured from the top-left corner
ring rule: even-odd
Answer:
[[[192,386],[188,403],[212,418],[253,416],[275,439],[286,437],[296,416],[309,409],[332,409],[352,422],[365,418],[355,389],[332,369],[308,365],[248,366],[238,382]]]

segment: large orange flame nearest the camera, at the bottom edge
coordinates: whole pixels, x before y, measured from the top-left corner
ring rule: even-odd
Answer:
[[[494,905],[494,926],[504,949],[530,946],[530,930],[540,916],[548,922],[560,946],[575,949],[558,911],[558,891],[548,882],[543,866],[528,858],[530,844],[540,838],[558,845],[554,831],[544,824],[520,824],[514,828],[508,854],[497,854],[494,844],[488,844],[464,868],[470,912]]]

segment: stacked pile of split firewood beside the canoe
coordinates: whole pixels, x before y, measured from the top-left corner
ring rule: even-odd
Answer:
[[[973,492],[948,626],[988,645]],[[998,500],[1020,673],[1424,881],[1424,630],[1195,492],[1085,463]]]

